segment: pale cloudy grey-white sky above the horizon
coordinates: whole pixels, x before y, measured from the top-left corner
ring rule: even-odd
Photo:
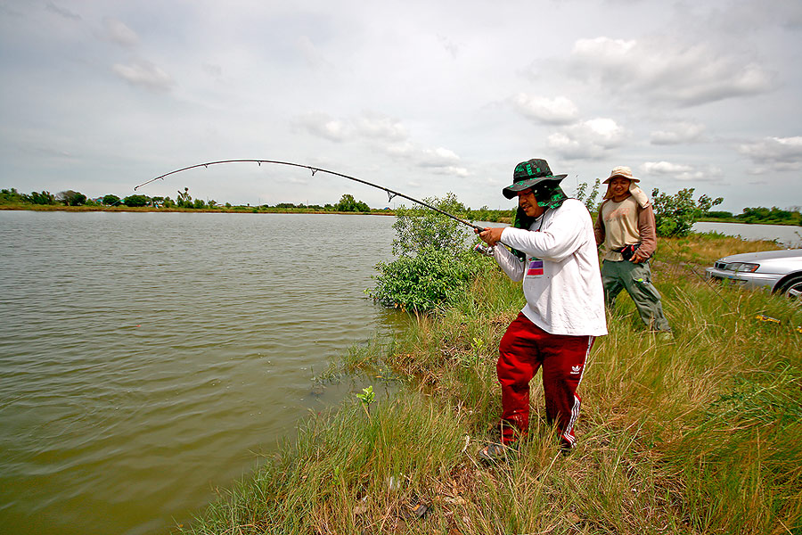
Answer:
[[[0,187],[509,208],[519,161],[577,184],[802,205],[802,3],[0,0]],[[393,203],[389,203],[392,205]]]

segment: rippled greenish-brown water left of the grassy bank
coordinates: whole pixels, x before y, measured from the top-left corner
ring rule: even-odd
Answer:
[[[167,531],[336,403],[392,221],[0,212],[0,531]]]

